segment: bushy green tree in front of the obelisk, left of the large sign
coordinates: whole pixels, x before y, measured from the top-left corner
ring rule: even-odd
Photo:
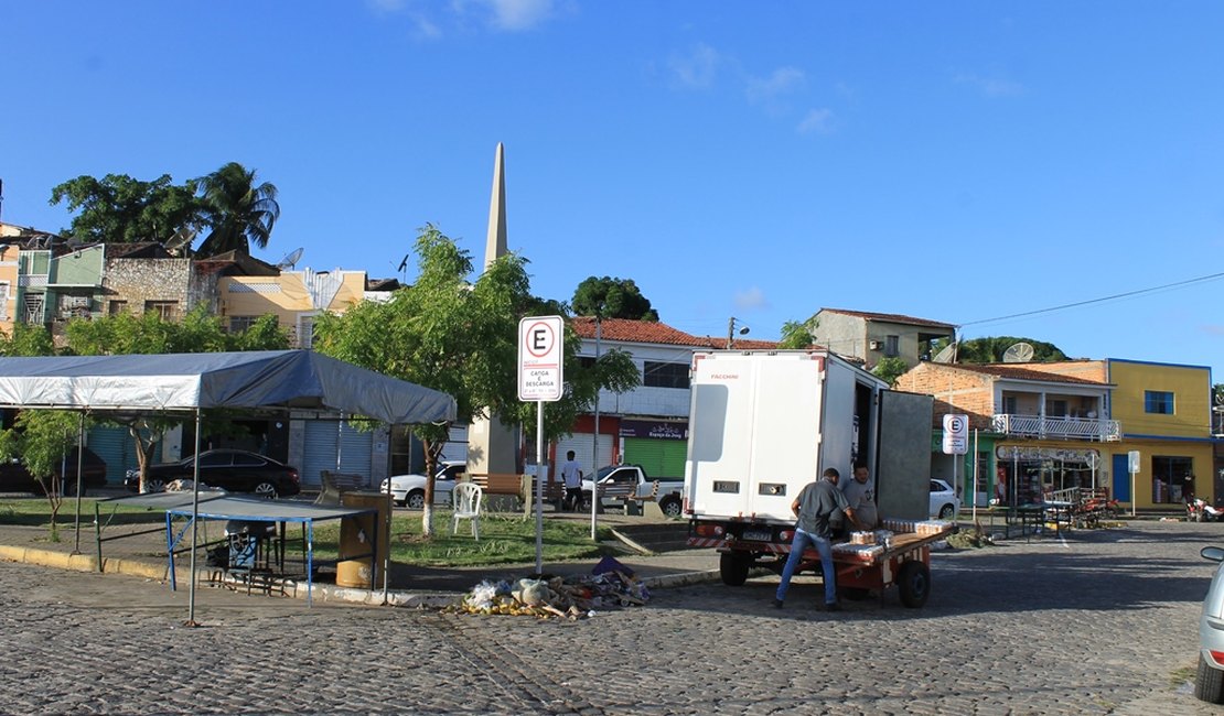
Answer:
[[[530,294],[525,260],[501,257],[471,283],[471,257],[433,225],[420,230],[414,250],[419,277],[412,286],[388,302],[365,301],[344,315],[319,315],[315,348],[450,395],[460,423],[492,414],[518,417],[518,321],[546,305]],[[568,331],[565,346],[577,347]],[[601,359],[608,362],[616,364],[617,358]],[[567,363],[573,364],[577,360]],[[602,370],[608,369],[595,375]],[[588,380],[599,379],[570,374],[572,392],[590,395]],[[572,425],[573,419],[565,428]],[[414,431],[425,446],[426,474],[432,475],[449,425],[417,425]],[[425,491],[422,529],[432,535],[433,480]]]

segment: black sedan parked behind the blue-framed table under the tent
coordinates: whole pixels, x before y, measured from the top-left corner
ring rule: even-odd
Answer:
[[[175,480],[195,478],[196,458],[148,467],[147,492],[160,492]],[[140,473],[132,470],[124,481],[131,491],[140,490]],[[200,484],[230,492],[255,492],[264,497],[285,497],[301,492],[297,468],[246,450],[206,450],[200,453]]]

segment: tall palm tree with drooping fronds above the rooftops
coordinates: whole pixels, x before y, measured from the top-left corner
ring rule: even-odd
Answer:
[[[212,231],[196,255],[214,257],[229,250],[250,254],[252,243],[268,246],[272,227],[280,217],[277,187],[255,182],[255,170],[236,161],[200,178],[204,224]]]

